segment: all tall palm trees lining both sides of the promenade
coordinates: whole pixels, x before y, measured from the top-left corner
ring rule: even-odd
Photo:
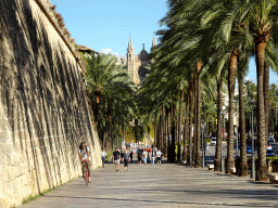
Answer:
[[[89,96],[102,146],[110,148],[105,145],[114,143],[115,134],[126,132],[132,119],[140,119],[144,126],[154,125],[155,143],[170,161],[175,161],[177,144],[178,161],[188,160],[188,164],[200,167],[200,128],[208,129],[210,125],[217,123],[215,170],[218,171],[223,93],[228,93],[226,172],[230,173],[235,164],[233,100],[237,79],[241,132],[239,174],[247,176],[244,101],[248,93],[243,78],[250,57],[255,56],[256,179],[266,180],[269,66],[277,72],[276,1],[168,0],[168,6],[167,15],[161,21],[166,29],[156,32],[161,36],[161,43],[152,49],[150,74],[139,90],[129,81],[127,69],[116,65],[114,56],[84,56]],[[226,84],[228,87],[224,88]],[[271,100],[275,105],[276,96]],[[218,122],[215,122],[215,117]]]

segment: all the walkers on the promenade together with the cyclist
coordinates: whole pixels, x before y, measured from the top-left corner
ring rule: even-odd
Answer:
[[[128,162],[132,161],[132,156],[136,153],[135,148],[132,148],[130,152],[125,150],[124,152],[119,152],[118,147],[115,148],[113,152],[113,164],[115,164],[115,171],[118,171],[119,168],[119,161],[122,160],[124,162],[124,168],[125,171],[128,171]],[[78,155],[83,165],[83,177],[85,178],[86,173],[86,167],[88,169],[88,181],[90,183],[91,178],[90,178],[90,152],[89,147],[86,146],[86,142],[81,142],[79,150],[78,150]],[[104,148],[102,148],[101,152],[101,159],[102,159],[102,167],[104,168],[104,162],[106,158],[106,152]],[[143,160],[143,164],[147,165],[147,160],[151,160],[151,166],[154,165],[154,160],[157,160],[157,165],[161,166],[161,159],[162,159],[162,152],[161,150],[157,150],[155,146],[154,148],[137,148],[137,158],[138,158],[138,165],[141,165],[141,161]]]

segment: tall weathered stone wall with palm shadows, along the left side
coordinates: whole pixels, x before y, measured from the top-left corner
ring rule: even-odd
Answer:
[[[101,165],[84,68],[63,32],[49,0],[0,1],[1,208],[80,176],[81,141]]]

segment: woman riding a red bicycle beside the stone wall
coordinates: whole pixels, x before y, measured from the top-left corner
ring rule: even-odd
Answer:
[[[88,174],[89,174],[88,182],[90,183],[91,182],[91,177],[90,177],[91,161],[90,161],[89,147],[86,146],[86,142],[81,142],[81,144],[79,146],[78,155],[80,157],[81,165],[83,165],[83,178],[85,178],[86,167],[88,167]]]

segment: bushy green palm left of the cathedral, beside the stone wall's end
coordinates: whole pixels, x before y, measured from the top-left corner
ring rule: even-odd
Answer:
[[[98,133],[99,135],[103,135],[104,132],[102,130],[106,129],[109,134],[112,135],[112,129],[115,123],[112,119],[113,116],[116,118],[116,114],[122,113],[119,117],[123,118],[123,115],[126,115],[127,118],[123,119],[127,121],[130,114],[123,114],[123,110],[130,110],[131,107],[135,107],[130,100],[130,98],[132,98],[132,95],[130,95],[132,94],[131,82],[129,81],[126,69],[124,69],[122,65],[116,65],[115,56],[100,53],[84,55],[83,57],[86,61],[86,81],[89,96],[96,104],[94,117]],[[117,106],[122,108],[117,108]],[[101,110],[102,107],[103,113]],[[111,135],[110,144],[112,143]],[[108,145],[108,136],[109,135],[102,136],[102,145]],[[105,139],[105,141],[103,141],[103,139]]]

